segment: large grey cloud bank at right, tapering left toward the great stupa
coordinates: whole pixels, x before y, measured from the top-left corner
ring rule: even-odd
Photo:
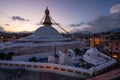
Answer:
[[[116,11],[112,12],[112,14],[110,12],[110,14],[107,16],[97,16],[93,20],[85,24],[74,24],[73,26],[76,27],[74,27],[73,30],[76,30],[76,32],[78,32],[78,30],[89,32],[106,32],[112,29],[120,28],[120,11],[118,9],[118,5],[116,8]]]

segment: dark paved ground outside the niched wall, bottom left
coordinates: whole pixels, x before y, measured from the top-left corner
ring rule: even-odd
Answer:
[[[82,80],[54,73],[0,69],[0,80]]]

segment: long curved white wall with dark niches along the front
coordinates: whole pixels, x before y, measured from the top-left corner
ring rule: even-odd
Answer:
[[[38,72],[51,72],[62,74],[76,78],[88,78],[93,75],[93,71],[75,68],[67,65],[59,65],[53,63],[39,63],[39,62],[23,62],[23,61],[0,61],[0,68],[18,69]]]

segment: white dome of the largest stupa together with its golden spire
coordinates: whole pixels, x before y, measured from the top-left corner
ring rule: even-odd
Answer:
[[[62,37],[60,33],[53,28],[50,16],[49,16],[49,10],[48,7],[45,10],[45,19],[43,22],[44,26],[41,26],[34,32],[34,36],[36,37]]]

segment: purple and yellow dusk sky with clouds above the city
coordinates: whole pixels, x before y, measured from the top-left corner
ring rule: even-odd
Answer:
[[[102,32],[120,27],[120,0],[0,0],[0,31],[34,31],[48,6],[67,31]]]

